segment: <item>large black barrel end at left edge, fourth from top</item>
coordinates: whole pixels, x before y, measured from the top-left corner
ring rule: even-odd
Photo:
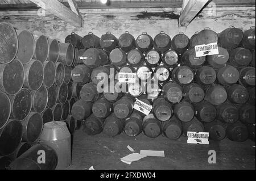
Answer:
[[[22,141],[22,124],[20,121],[9,120],[4,128],[0,129],[0,155],[10,155]]]

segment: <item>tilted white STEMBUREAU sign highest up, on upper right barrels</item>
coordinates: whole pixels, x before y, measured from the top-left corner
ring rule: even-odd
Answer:
[[[196,57],[204,57],[207,55],[218,54],[218,44],[210,43],[206,45],[195,46]]]

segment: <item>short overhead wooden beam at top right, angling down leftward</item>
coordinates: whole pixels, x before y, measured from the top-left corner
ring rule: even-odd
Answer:
[[[179,26],[187,27],[208,1],[209,0],[183,0],[183,8],[181,9],[179,18]]]

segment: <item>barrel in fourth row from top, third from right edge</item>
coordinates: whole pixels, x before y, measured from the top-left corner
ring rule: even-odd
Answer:
[[[205,100],[210,104],[220,105],[226,101],[228,94],[221,85],[212,85],[205,91]]]

